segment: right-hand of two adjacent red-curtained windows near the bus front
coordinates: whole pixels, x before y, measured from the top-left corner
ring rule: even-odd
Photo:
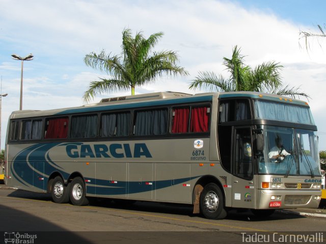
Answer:
[[[208,113],[207,107],[192,109],[190,118],[190,132],[207,132],[208,131]]]

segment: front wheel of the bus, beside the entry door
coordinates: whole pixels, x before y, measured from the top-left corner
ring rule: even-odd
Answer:
[[[227,215],[221,189],[214,183],[207,184],[200,194],[201,214],[210,220],[221,220]]]

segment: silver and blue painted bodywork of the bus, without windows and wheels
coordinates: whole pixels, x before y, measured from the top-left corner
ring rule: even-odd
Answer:
[[[283,204],[279,208],[318,205],[319,201],[313,200],[313,196],[318,196],[318,194],[320,196],[320,191],[262,189],[262,181],[270,182],[271,177],[279,176],[254,174],[253,179],[247,180],[224,170],[220,163],[217,138],[218,99],[222,94],[225,96],[249,94],[258,98],[258,94],[253,93],[209,93],[195,96],[184,95],[180,98],[153,99],[149,102],[145,99],[123,103],[102,101],[100,105],[77,108],[13,112],[10,118],[15,119],[49,115],[67,116],[79,113],[79,111],[93,111],[92,109],[95,109],[95,112],[102,112],[111,109],[140,109],[152,105],[164,106],[164,104],[178,106],[178,99],[208,97],[200,102],[211,103],[210,135],[206,137],[193,135],[191,138],[149,139],[146,137],[144,140],[137,138],[83,141],[80,139],[78,142],[63,140],[46,140],[45,142],[43,140],[42,143],[31,141],[31,143],[8,144],[8,124],[6,183],[8,186],[19,189],[47,192],[48,179],[53,173],[59,173],[66,184],[72,174],[78,173],[85,180],[87,196],[193,204],[196,184],[201,178],[209,176],[216,179],[221,187],[227,207],[268,209],[270,197],[274,195],[281,196],[281,198],[285,198],[286,195],[311,196],[311,199],[304,205]],[[268,96],[279,98],[275,95]],[[303,103],[298,100],[293,100],[293,102]],[[194,147],[196,140],[203,141],[202,148]],[[106,148],[105,153],[96,150],[98,147]],[[196,155],[196,151],[200,151],[200,155]],[[297,184],[301,180],[310,178],[310,176],[287,178],[281,176],[281,180],[288,184]],[[289,201],[295,203],[295,199]]]

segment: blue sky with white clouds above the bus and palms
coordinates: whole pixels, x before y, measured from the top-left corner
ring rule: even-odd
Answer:
[[[163,32],[156,51],[173,50],[187,77],[162,77],[155,83],[136,87],[136,94],[189,90],[199,71],[225,73],[223,57],[237,45],[247,65],[279,62],[282,81],[300,86],[311,99],[318,128],[319,150],[326,150],[326,38],[311,40],[305,49],[300,31],[317,31],[326,23],[322,0],[0,0],[0,76],[2,77],[1,148],[4,148],[8,118],[19,110],[19,60],[29,53],[34,59],[23,66],[23,109],[46,110],[83,105],[89,83],[108,77],[87,67],[90,52],[121,54],[122,31],[142,31],[145,37]],[[319,45],[320,44],[320,45]],[[116,92],[97,96],[129,95]]]

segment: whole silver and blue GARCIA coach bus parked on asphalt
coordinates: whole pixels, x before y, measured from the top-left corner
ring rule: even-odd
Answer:
[[[5,181],[56,203],[99,197],[189,204],[208,219],[232,208],[269,216],[318,207],[316,131],[308,103],[253,92],[162,92],[15,111]]]

